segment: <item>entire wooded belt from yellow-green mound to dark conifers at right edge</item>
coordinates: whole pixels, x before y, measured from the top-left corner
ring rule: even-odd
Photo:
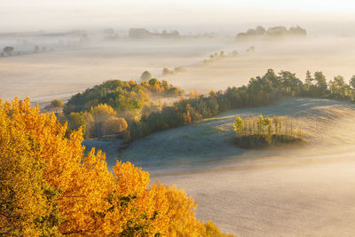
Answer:
[[[129,144],[159,130],[197,122],[230,109],[270,105],[282,97],[354,101],[355,76],[348,84],[341,75],[327,81],[322,72],[307,71],[303,82],[289,71],[276,74],[269,69],[264,75],[251,78],[247,85],[210,91],[207,95],[193,91],[171,106],[150,99],[150,95],[164,98],[183,94],[183,90],[155,78],[142,83],[107,81],[69,99],[59,121],[68,122],[69,130],[82,127],[85,138],[123,132]]]

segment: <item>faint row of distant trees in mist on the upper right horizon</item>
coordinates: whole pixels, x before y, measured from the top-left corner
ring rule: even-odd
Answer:
[[[261,26],[249,28],[247,32],[237,34],[237,40],[255,38],[257,36],[306,36],[307,31],[300,26],[291,27],[289,29],[279,26],[268,28],[267,30]]]

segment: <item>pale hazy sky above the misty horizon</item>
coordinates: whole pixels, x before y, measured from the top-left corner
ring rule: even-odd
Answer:
[[[300,24],[342,33],[348,27],[338,25],[352,25],[354,12],[351,0],[0,0],[0,30],[145,27],[212,31]]]

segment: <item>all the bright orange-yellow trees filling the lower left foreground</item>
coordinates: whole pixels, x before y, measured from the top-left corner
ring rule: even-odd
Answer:
[[[2,236],[226,236],[176,186],[150,185],[130,162],[109,172],[101,151],[85,156],[82,131],[67,137],[29,99],[0,102],[0,124]]]

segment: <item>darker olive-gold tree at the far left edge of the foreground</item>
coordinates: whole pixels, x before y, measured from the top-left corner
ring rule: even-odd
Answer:
[[[23,132],[18,105],[0,100],[0,235],[55,234],[55,194],[43,179],[44,164],[36,155],[42,147]]]

